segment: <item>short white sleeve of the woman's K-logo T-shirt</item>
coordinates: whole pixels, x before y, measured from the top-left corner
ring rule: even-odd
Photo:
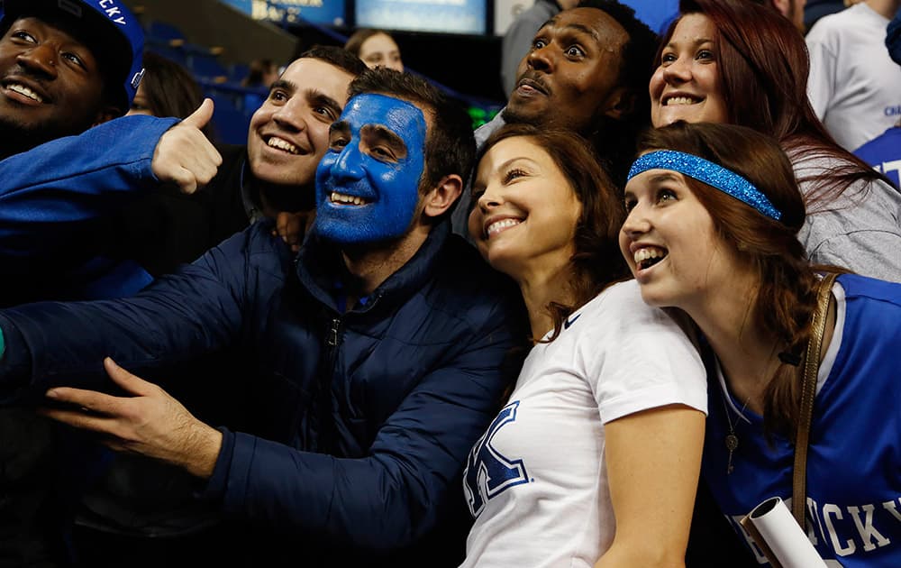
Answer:
[[[578,347],[601,421],[669,404],[706,413],[704,363],[675,320],[647,306],[633,280],[603,296]]]

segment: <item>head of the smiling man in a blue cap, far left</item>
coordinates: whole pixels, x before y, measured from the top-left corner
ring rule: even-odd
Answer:
[[[144,41],[122,2],[5,0],[0,30],[0,158],[128,111]]]

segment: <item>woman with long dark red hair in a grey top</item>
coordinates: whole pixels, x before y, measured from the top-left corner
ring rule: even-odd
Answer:
[[[651,122],[741,124],[781,143],[804,195],[811,261],[901,281],[901,194],[826,133],[804,38],[747,0],[682,0],[651,78]]]

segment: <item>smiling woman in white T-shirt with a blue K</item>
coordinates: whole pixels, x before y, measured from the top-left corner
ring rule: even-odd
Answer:
[[[535,344],[469,454],[463,565],[683,563],[705,371],[677,322],[621,281],[617,189],[575,134],[508,125],[472,191],[469,232],[519,284]]]

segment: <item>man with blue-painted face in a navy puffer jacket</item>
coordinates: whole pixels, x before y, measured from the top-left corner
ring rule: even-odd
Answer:
[[[296,257],[261,222],[133,298],[0,312],[0,406],[54,400],[48,416],[196,476],[232,565],[458,565],[462,464],[526,336],[512,282],[451,234],[473,160],[460,108],[364,72]],[[255,370],[252,434],[136,376],[225,348]]]

